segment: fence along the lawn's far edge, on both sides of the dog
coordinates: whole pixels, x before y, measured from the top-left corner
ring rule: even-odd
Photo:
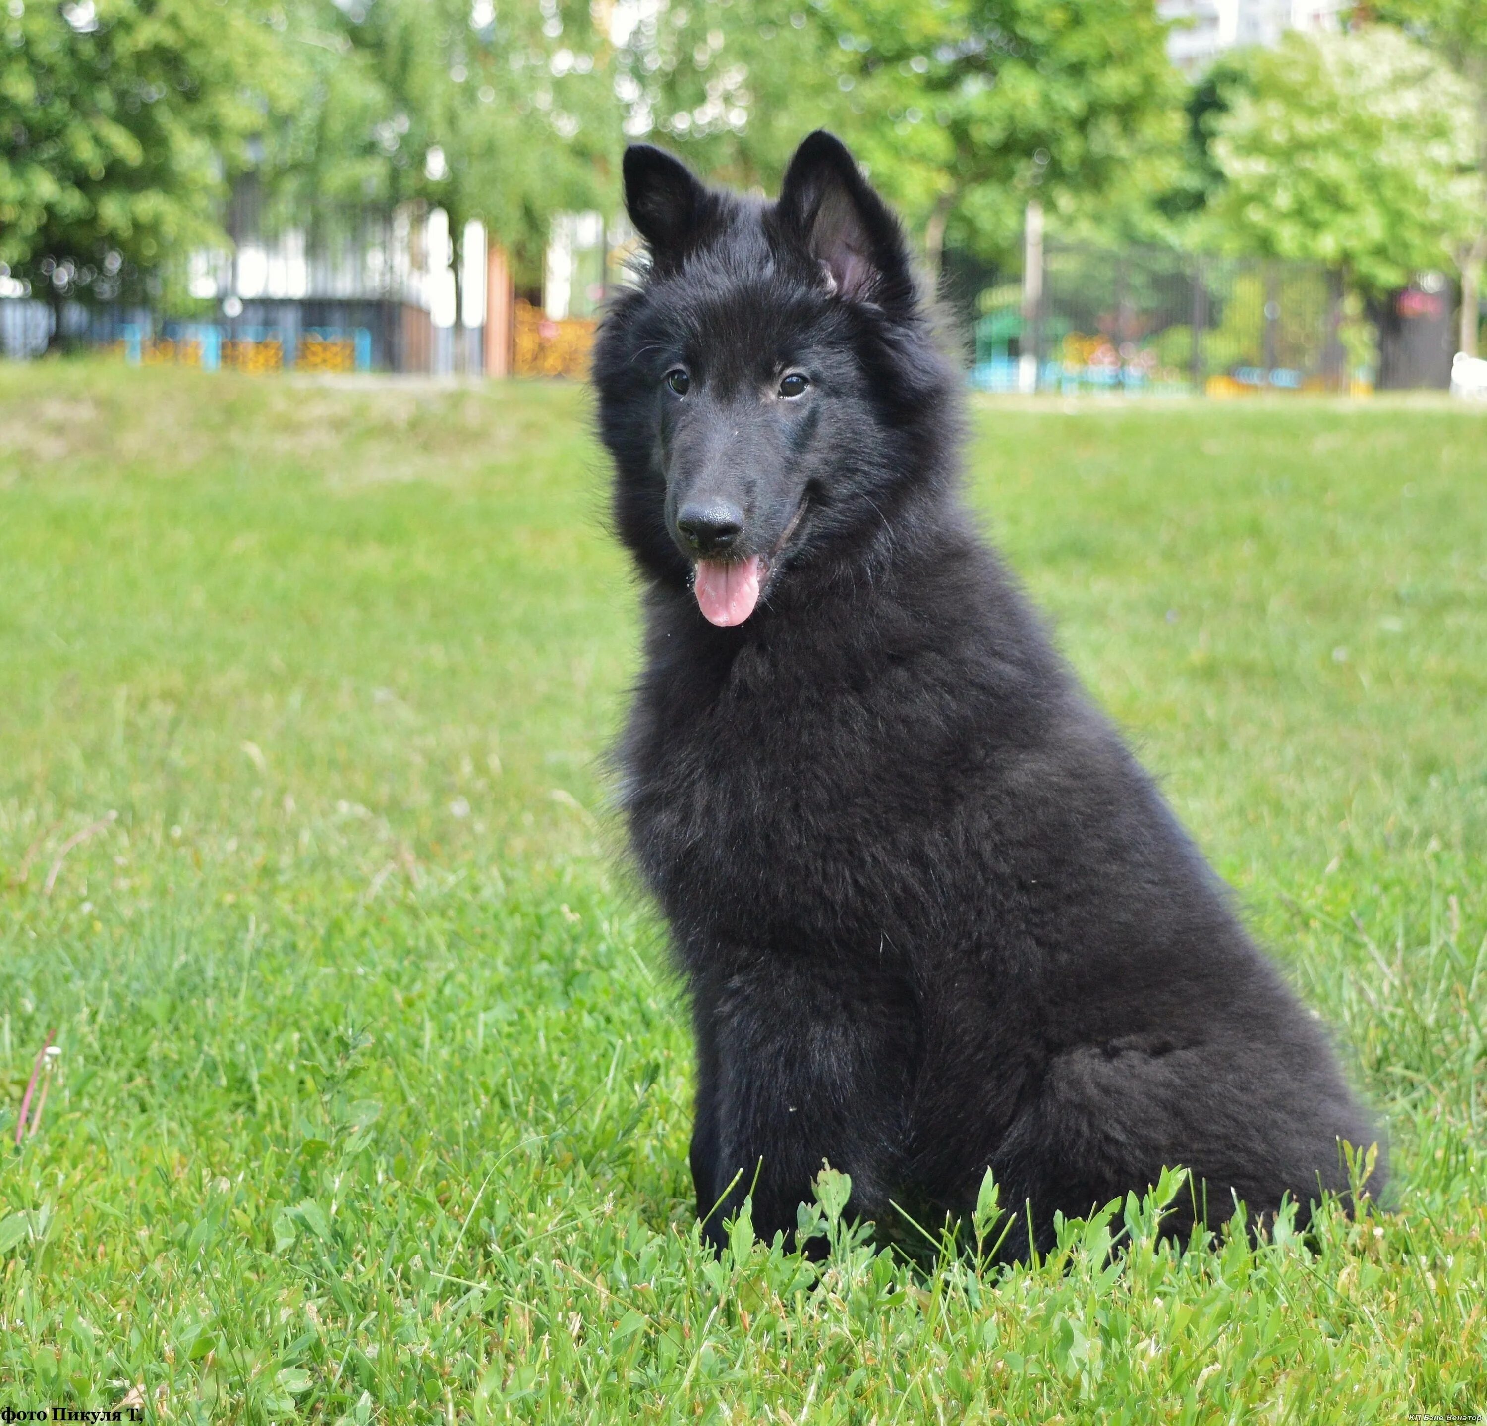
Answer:
[[[1048,242],[1030,272],[946,254],[941,294],[974,387],[1239,396],[1450,384],[1453,294],[1438,275],[1365,308],[1338,274],[1306,263]],[[412,300],[236,294],[204,302],[216,315],[195,323],[68,305],[62,336],[128,361],[244,370],[586,370],[592,320],[513,303],[504,265],[488,290],[504,293],[488,303],[495,342],[436,327]],[[51,323],[45,303],[0,300],[0,351],[40,354]]]

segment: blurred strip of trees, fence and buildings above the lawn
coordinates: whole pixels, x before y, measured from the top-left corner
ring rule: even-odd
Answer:
[[[581,375],[625,144],[815,126],[983,390],[1487,390],[1480,0],[6,0],[0,343]]]

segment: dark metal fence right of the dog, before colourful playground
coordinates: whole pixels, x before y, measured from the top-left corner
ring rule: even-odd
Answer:
[[[990,281],[970,317],[989,391],[1362,391],[1375,327],[1325,268],[1050,244],[1041,283]],[[961,296],[967,275],[955,278]]]

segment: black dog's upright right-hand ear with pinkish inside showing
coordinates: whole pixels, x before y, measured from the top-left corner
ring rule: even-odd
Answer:
[[[843,297],[885,306],[913,302],[903,229],[834,134],[816,129],[796,150],[779,216]]]

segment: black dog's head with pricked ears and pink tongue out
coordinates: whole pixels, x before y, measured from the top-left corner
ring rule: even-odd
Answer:
[[[616,519],[647,572],[739,625],[925,479],[952,382],[903,232],[830,134],[773,204],[636,144],[625,202],[650,262],[595,352]]]

